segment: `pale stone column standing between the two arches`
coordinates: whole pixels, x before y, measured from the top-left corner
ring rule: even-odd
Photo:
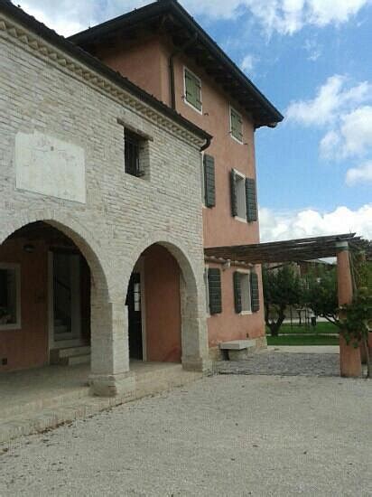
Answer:
[[[128,320],[122,298],[103,303],[92,295],[90,392],[101,397],[130,398],[135,376],[129,371]]]

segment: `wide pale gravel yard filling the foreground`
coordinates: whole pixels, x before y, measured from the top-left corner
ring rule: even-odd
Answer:
[[[369,380],[216,375],[0,446],[0,495],[372,495]]]

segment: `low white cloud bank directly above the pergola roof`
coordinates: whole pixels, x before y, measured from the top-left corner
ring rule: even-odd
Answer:
[[[372,239],[372,203],[351,211],[338,207],[332,212],[313,209],[294,212],[276,212],[260,209],[261,241],[298,239],[321,235],[356,232]]]

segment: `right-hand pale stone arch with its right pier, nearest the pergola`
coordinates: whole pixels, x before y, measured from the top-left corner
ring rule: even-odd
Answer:
[[[202,258],[191,256],[190,251],[180,239],[167,232],[153,231],[147,234],[132,250],[127,266],[130,272],[141,254],[154,245],[166,248],[180,267],[181,361],[183,368],[205,370],[208,362],[208,338]],[[130,273],[126,275],[126,286],[129,277]]]

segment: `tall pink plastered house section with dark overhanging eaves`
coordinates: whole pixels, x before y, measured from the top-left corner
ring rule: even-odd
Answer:
[[[255,131],[283,116],[191,15],[160,0],[70,40],[213,136],[201,172],[204,246],[258,243]],[[260,267],[206,264],[210,357],[229,340],[265,346]]]

